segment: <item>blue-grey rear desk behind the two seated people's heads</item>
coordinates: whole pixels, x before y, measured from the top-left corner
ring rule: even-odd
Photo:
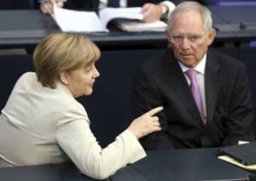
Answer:
[[[256,39],[256,30],[241,31],[234,23],[256,21],[254,7],[220,7],[209,6],[213,12],[213,22],[220,30],[215,42],[220,41],[251,41]],[[244,14],[246,9],[246,14]],[[228,13],[226,13],[228,12]],[[239,17],[239,18],[238,18]],[[250,18],[250,20],[248,20]],[[43,15],[39,10],[0,10],[0,47],[35,46],[43,36],[59,32],[54,20]],[[151,45],[164,48],[167,39],[164,33],[88,33],[99,46],[124,47]]]

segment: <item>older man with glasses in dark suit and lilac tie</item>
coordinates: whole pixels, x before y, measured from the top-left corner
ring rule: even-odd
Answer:
[[[161,131],[142,139],[147,150],[220,147],[251,141],[252,98],[245,65],[208,49],[215,39],[211,13],[182,2],[170,15],[171,48],[134,76],[135,115],[163,106]]]

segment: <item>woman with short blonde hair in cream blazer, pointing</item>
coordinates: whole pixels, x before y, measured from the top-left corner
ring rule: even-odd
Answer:
[[[33,54],[36,72],[19,78],[0,115],[0,167],[71,159],[83,174],[106,179],[146,156],[138,139],[160,131],[154,115],[163,107],[134,119],[113,143],[101,148],[85,108],[75,100],[92,94],[100,76],[98,58],[98,47],[79,34],[50,34],[40,41]]]

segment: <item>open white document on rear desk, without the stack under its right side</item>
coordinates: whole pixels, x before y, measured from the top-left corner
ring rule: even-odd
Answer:
[[[142,20],[140,7],[101,9],[99,16],[95,12],[69,10],[54,6],[54,20],[62,31],[108,31],[106,26],[114,18]]]

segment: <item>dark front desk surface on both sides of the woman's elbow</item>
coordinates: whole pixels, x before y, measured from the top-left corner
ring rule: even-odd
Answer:
[[[252,172],[217,159],[218,148],[149,151],[147,158],[117,171],[109,180],[218,180]],[[73,164],[0,168],[0,180],[93,180]]]

